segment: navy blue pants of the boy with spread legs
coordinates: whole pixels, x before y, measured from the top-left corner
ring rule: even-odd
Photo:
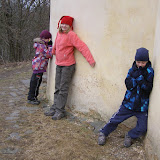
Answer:
[[[135,139],[147,132],[147,119],[148,113],[147,112],[135,112],[132,110],[127,109],[123,105],[120,106],[118,112],[116,112],[109,122],[100,130],[100,132],[104,133],[105,136],[108,136],[111,132],[113,132],[118,124],[123,122],[124,120],[136,116],[137,117],[137,125],[135,128],[128,132],[128,135]]]

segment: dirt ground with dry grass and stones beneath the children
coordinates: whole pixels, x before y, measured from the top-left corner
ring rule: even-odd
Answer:
[[[146,160],[142,140],[123,147],[129,129],[120,125],[97,144],[105,122],[94,111],[79,113],[68,107],[67,118],[53,121],[47,109],[46,76],[40,87],[38,106],[26,103],[31,63],[0,66],[0,160]]]

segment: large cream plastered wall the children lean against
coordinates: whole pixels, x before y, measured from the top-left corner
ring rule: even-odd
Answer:
[[[75,52],[76,72],[67,105],[76,110],[82,112],[95,110],[107,121],[123,100],[126,90],[124,80],[134,61],[136,49],[139,47],[149,49],[150,60],[154,62],[156,74],[150,101],[147,140],[158,154],[160,150],[158,0],[51,0],[50,31],[53,41],[58,31],[57,23],[63,15],[74,17],[74,31],[87,44],[96,60],[95,68],[91,68],[81,53],[77,50]],[[53,57],[48,67],[47,82],[47,96],[51,103],[54,97],[55,68]],[[151,154],[153,153],[154,150]]]

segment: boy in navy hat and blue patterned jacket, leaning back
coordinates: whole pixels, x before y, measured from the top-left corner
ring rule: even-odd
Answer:
[[[118,124],[132,116],[137,117],[137,125],[125,135],[124,146],[130,147],[132,139],[147,132],[149,95],[153,87],[153,77],[154,71],[149,61],[148,50],[146,48],[137,49],[135,61],[125,79],[127,88],[125,97],[119,110],[100,130],[99,145],[104,145],[106,137],[117,128]]]

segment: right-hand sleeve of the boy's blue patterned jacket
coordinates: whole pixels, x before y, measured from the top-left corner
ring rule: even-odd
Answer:
[[[154,78],[154,70],[152,68],[147,69],[148,76],[147,78],[144,78],[141,82],[141,89],[143,89],[146,92],[151,92],[153,88],[153,78]]]

